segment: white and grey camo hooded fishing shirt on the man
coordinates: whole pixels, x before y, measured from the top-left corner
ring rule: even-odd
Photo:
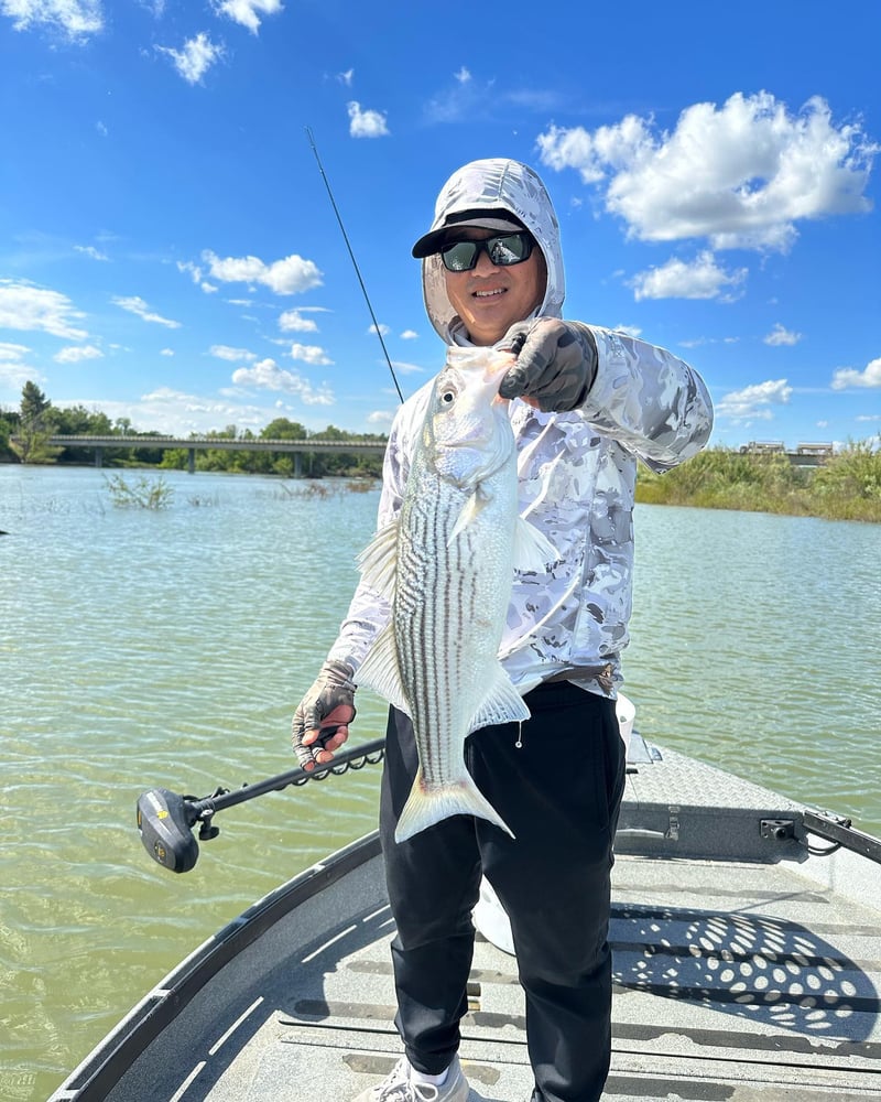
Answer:
[[[533,316],[561,316],[565,295],[556,215],[539,176],[516,161],[465,165],[437,199],[432,229],[449,214],[486,208],[516,215],[547,264],[545,298]],[[422,262],[428,317],[447,344],[467,345],[446,294],[440,257]],[[545,574],[514,572],[500,657],[521,693],[572,680],[603,694],[620,682],[632,602],[633,494],[640,460],[661,472],[695,455],[713,428],[707,389],[683,360],[612,329],[589,326],[597,374],[584,404],[542,413],[514,399],[520,511],[557,551]],[[434,380],[399,409],[389,435],[378,526],[399,512],[416,435]],[[357,671],[391,614],[363,582],[329,658]]]

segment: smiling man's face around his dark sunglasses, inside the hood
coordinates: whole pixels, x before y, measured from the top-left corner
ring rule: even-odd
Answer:
[[[458,241],[485,241],[498,231],[463,227]],[[501,341],[514,322],[522,322],[544,299],[547,271],[541,249],[533,247],[529,260],[497,267],[481,249],[477,264],[467,272],[444,269],[447,295],[463,320],[470,341],[492,345]]]

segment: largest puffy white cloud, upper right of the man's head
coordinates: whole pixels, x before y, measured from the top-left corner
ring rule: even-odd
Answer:
[[[596,186],[629,237],[777,250],[802,219],[868,212],[881,149],[859,122],[836,123],[818,96],[793,114],[765,91],[695,104],[672,132],[629,115],[594,132],[552,126],[537,144],[543,164]]]

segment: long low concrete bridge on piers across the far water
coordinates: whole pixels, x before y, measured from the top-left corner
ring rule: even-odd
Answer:
[[[17,437],[13,436],[14,441]],[[294,474],[302,476],[302,456],[307,453],[326,455],[382,455],[384,441],[354,440],[236,440],[231,436],[89,436],[53,435],[47,441],[51,447],[95,449],[95,466],[104,466],[104,453],[108,447],[146,449],[150,451],[177,451],[186,449],[189,457],[188,471],[196,469],[196,452],[208,449],[224,452],[292,452]]]

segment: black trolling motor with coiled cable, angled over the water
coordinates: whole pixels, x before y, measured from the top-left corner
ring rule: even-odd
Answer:
[[[316,765],[307,773],[292,769],[268,777],[255,785],[243,785],[237,791],[226,788],[215,789],[211,796],[199,800],[195,796],[180,796],[167,788],[151,788],[138,797],[138,830],[144,849],[157,864],[173,873],[188,873],[196,864],[199,844],[193,835],[193,828],[199,824],[199,841],[217,838],[220,828],[215,825],[218,811],[257,799],[265,792],[278,792],[290,785],[302,786],[309,780],[326,780],[331,775],[362,769],[366,765],[377,765],[382,760],[385,739],[374,738],[362,746],[354,746],[334,756],[333,761]]]

